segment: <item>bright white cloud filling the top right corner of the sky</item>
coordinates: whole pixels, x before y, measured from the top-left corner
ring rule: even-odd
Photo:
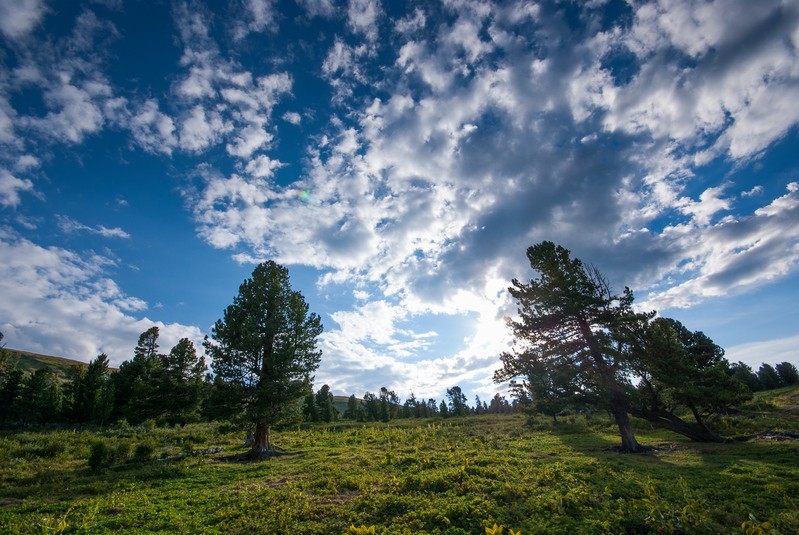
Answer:
[[[758,154],[799,121],[791,103],[799,69],[787,39],[798,24],[799,8],[781,3],[638,6],[632,29],[617,44],[645,61],[634,80],[603,104],[610,111],[606,126],[688,146],[716,134],[711,154]],[[672,48],[695,64],[681,65]]]

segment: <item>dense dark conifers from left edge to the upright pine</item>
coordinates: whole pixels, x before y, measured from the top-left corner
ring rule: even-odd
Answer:
[[[158,335],[158,327],[142,333],[133,358],[116,372],[100,354],[88,366],[72,366],[66,378],[50,368],[25,374],[0,350],[0,425],[199,420],[211,389],[205,359],[187,338],[160,353]]]

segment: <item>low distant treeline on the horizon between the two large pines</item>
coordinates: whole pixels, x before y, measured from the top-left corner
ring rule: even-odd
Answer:
[[[340,412],[334,403],[333,393],[328,385],[322,386],[316,394],[305,397],[302,416],[306,422],[333,422],[353,420],[357,422],[388,422],[398,418],[449,418],[471,414],[509,414],[524,406],[522,399],[509,402],[504,396],[494,394],[491,402],[475,396],[470,406],[459,386],[447,389],[446,399],[438,403],[434,398],[418,399],[411,394],[404,403],[393,390],[382,387],[377,394],[366,392],[362,399],[351,395],[347,408]]]

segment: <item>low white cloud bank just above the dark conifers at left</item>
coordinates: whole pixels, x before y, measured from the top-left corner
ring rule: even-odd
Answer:
[[[9,347],[83,361],[105,352],[118,366],[153,325],[162,347],[182,337],[202,340],[196,327],[131,315],[147,305],[107,278],[107,258],[44,248],[7,232],[0,234],[0,256],[0,331]]]

